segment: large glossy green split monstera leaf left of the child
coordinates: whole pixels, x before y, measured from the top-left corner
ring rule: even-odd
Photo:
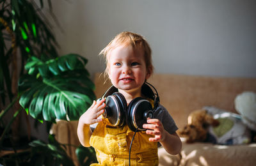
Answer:
[[[40,121],[79,119],[95,100],[86,62],[77,54],[45,62],[31,57],[25,66],[28,74],[19,80],[20,105]]]

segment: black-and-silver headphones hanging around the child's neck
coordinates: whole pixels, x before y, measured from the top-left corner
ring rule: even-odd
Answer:
[[[113,126],[121,127],[127,124],[133,132],[146,130],[142,128],[142,125],[147,123],[148,117],[154,117],[154,111],[159,106],[159,96],[156,88],[148,82],[141,87],[141,93],[154,101],[154,107],[148,100],[141,97],[134,98],[127,106],[124,95],[118,93],[116,87],[109,87],[102,96],[102,98],[106,98],[103,117],[108,118],[109,123]]]

